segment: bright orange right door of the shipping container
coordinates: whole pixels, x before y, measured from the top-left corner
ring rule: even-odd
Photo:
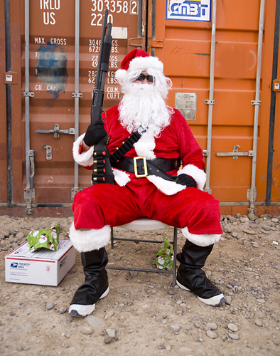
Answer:
[[[177,93],[197,94],[196,118],[195,120],[190,120],[191,117],[186,118],[190,120],[192,130],[204,150],[207,148],[208,140],[211,140],[210,190],[222,204],[248,205],[247,190],[250,189],[252,181],[254,135],[254,105],[251,102],[255,100],[256,94],[261,1],[252,0],[246,3],[217,1],[217,23],[214,26],[215,104],[212,106],[212,137],[209,138],[207,138],[208,105],[205,105],[205,100],[209,98],[213,27],[211,21],[197,21],[198,16],[193,16],[192,21],[188,21],[187,15],[192,13],[188,6],[193,6],[192,9],[197,6],[198,9],[198,6],[208,4],[208,9],[212,11],[211,6],[215,1],[212,1],[212,4],[210,1],[200,3],[172,0],[152,3],[156,5],[156,10],[154,9],[156,26],[154,37],[153,28],[149,34],[152,40],[163,41],[163,46],[153,48],[152,41],[151,51],[163,61],[166,75],[173,80],[173,92],[169,97],[169,103],[170,105],[176,103]],[[275,5],[276,1],[266,1],[265,6],[260,93],[262,105],[259,108],[256,152],[259,202],[265,200],[266,192],[267,133],[271,95],[269,82],[272,66],[269,58],[273,51]],[[174,18],[176,20],[173,20]],[[188,101],[185,105],[189,105]],[[205,159],[209,159],[209,156]],[[274,199],[279,201],[279,193]]]

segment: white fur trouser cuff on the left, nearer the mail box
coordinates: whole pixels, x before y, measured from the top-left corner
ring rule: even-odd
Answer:
[[[69,237],[73,246],[79,252],[99,250],[99,248],[109,244],[111,228],[109,225],[106,225],[98,230],[76,230],[74,223],[72,223],[69,230]]]

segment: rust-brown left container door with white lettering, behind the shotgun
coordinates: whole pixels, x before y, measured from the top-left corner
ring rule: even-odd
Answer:
[[[35,191],[33,202],[36,204],[67,203],[72,199],[74,187],[72,142],[75,134],[75,98],[73,97],[75,95],[81,97],[78,100],[79,129],[80,132],[85,132],[90,123],[99,40],[104,9],[107,5],[109,5],[108,20],[114,26],[114,39],[105,88],[104,109],[120,99],[120,90],[116,85],[114,72],[127,53],[128,37],[137,37],[139,3],[90,0],[30,2],[29,90],[34,93],[34,96],[28,100],[30,149],[36,153],[33,177]],[[80,11],[76,25],[75,6],[79,6]],[[75,26],[78,26],[80,31],[78,49],[75,48]],[[78,93],[75,93],[75,49],[80,56]],[[24,66],[24,63],[22,65]],[[85,169],[79,169],[79,172],[77,189],[87,187],[91,177],[90,172]]]

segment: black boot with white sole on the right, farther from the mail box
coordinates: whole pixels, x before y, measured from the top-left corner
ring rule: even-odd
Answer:
[[[180,288],[189,290],[203,303],[208,305],[222,305],[225,297],[206,277],[201,269],[206,258],[210,255],[214,245],[198,246],[186,240],[182,252],[177,254],[180,266],[176,283]]]

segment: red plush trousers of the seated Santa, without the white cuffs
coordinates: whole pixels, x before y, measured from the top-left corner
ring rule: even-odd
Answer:
[[[220,207],[211,194],[186,188],[174,195],[160,192],[146,178],[133,178],[125,187],[95,184],[75,194],[75,229],[102,229],[141,217],[184,228],[191,234],[222,234]]]

